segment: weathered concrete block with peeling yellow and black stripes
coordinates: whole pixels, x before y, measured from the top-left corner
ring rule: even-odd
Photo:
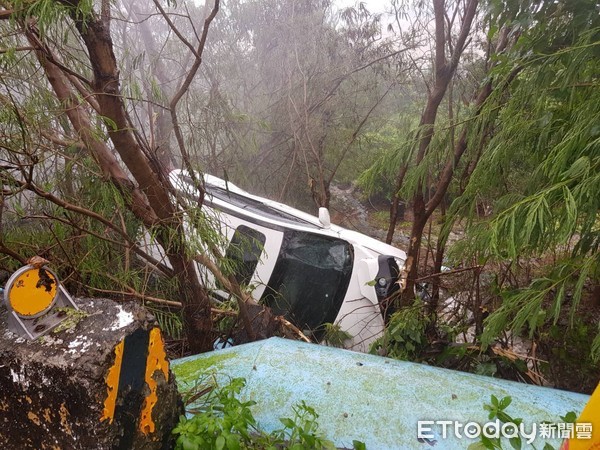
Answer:
[[[183,412],[153,317],[135,303],[80,311],[29,341],[0,308],[0,448],[167,449]]]

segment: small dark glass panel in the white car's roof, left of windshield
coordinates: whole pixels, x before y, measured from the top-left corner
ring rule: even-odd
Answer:
[[[225,252],[231,270],[241,286],[247,286],[260,261],[266,237],[260,231],[245,225],[236,228]]]

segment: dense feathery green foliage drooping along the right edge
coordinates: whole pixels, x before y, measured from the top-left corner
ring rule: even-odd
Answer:
[[[469,218],[470,244],[462,250],[514,265],[549,262],[525,287],[502,292],[501,307],[486,321],[486,344],[506,328],[533,336],[565,315],[572,323],[600,277],[600,24],[585,8],[546,8],[540,14],[549,19],[532,21],[496,70],[519,74],[509,95],[490,98],[478,119],[493,123],[494,133],[453,205],[454,214]],[[569,14],[584,26],[573,29]],[[492,218],[478,220],[478,199],[493,196]],[[592,353],[600,358],[600,333]]]

